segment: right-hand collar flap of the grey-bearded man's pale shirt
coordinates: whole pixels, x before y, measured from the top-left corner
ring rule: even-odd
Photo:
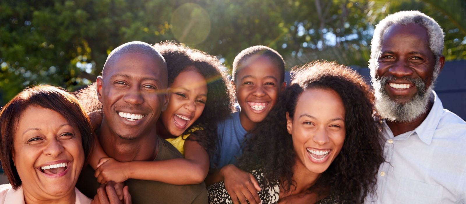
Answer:
[[[431,111],[425,120],[416,129],[414,129],[418,134],[419,139],[428,145],[431,144],[435,129],[437,129],[443,115],[443,105],[439,96],[435,91],[432,91],[432,94],[434,95],[434,104],[432,105]]]

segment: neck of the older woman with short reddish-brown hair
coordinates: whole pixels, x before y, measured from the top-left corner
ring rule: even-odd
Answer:
[[[46,194],[45,192],[41,193]],[[34,194],[37,193],[27,190],[27,188],[24,188],[23,184],[24,202],[27,204],[74,204],[76,201],[75,188],[71,188],[69,192],[60,197],[48,194],[46,194],[47,197],[41,197],[34,196]]]

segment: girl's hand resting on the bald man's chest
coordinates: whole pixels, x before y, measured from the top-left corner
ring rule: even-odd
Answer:
[[[123,162],[118,162],[114,158],[105,157],[99,160],[94,177],[96,177],[97,182],[101,184],[105,184],[110,180],[122,183],[128,180],[128,172],[124,167],[125,165]]]

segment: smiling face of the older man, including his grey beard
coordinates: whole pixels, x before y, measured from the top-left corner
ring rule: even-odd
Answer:
[[[391,26],[384,34],[372,80],[379,114],[389,121],[411,122],[425,113],[434,72],[443,67],[444,60],[441,56],[436,63],[424,27]]]

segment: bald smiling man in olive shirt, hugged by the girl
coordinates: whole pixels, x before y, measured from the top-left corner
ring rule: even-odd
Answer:
[[[157,136],[155,123],[166,108],[167,67],[151,45],[129,42],[114,49],[97,77],[97,98],[103,120],[96,136],[105,153],[120,161],[158,161],[181,158],[170,143]],[[94,170],[83,168],[76,186],[94,197],[99,183]],[[172,185],[129,179],[133,203],[207,203],[204,183]]]

